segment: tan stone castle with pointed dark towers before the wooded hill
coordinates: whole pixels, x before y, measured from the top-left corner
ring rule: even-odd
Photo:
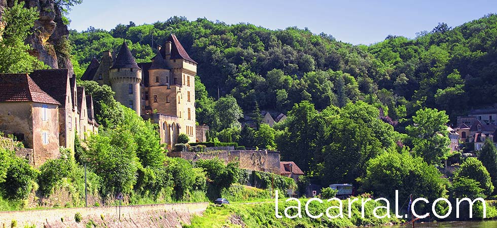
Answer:
[[[158,46],[152,62],[136,63],[123,42],[115,59],[110,51],[104,52],[100,62],[91,61],[81,79],[111,86],[117,101],[159,124],[161,143],[170,148],[181,133],[190,142],[204,141],[205,126],[195,122],[196,73],[197,62],[171,34]]]

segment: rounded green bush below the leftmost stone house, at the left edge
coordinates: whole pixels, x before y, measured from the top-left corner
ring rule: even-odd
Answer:
[[[7,169],[5,182],[0,184],[0,187],[9,199],[26,199],[37,176],[37,170],[33,169],[25,159],[14,157]]]

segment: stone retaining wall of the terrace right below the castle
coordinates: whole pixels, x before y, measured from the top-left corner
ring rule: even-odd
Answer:
[[[265,150],[218,150],[195,153],[177,151],[167,153],[169,157],[179,157],[190,161],[219,158],[225,163],[239,162],[239,168],[271,172],[279,175],[279,152]]]

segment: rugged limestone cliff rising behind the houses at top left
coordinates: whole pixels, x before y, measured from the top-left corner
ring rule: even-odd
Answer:
[[[16,0],[0,0],[0,26],[2,26],[2,10],[12,6],[14,1]],[[32,47],[29,53],[51,68],[67,68],[73,73],[73,64],[68,56],[69,31],[67,25],[62,22],[62,14],[55,7],[54,0],[24,2],[25,7],[34,7],[40,12],[40,18],[34,22],[33,34],[26,39],[26,43]]]

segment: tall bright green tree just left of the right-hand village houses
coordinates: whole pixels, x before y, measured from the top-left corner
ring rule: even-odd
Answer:
[[[434,108],[422,108],[412,117],[413,124],[406,127],[412,141],[412,151],[429,164],[440,164],[441,159],[449,152],[447,122],[449,117],[445,111]]]

